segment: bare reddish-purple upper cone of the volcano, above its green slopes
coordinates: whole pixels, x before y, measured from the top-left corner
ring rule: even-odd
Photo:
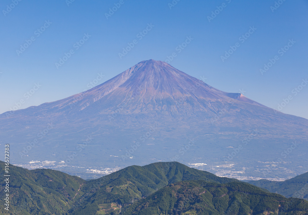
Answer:
[[[221,111],[224,103],[236,102],[233,99],[265,107],[240,93],[217,90],[166,62],[150,59],[88,91],[40,106],[44,106],[44,109],[57,106],[59,110],[76,106],[74,113],[87,109],[83,112],[106,114],[129,102],[125,114],[191,115],[194,111],[203,111],[208,112],[207,117],[210,118]]]

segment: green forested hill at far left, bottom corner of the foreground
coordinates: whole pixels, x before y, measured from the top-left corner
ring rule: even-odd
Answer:
[[[0,161],[4,170],[4,162]],[[52,169],[27,170],[10,165],[10,213],[9,214],[65,214],[83,193],[80,187],[85,180]],[[5,196],[4,175],[0,176],[0,197]],[[6,214],[0,204],[0,214]]]

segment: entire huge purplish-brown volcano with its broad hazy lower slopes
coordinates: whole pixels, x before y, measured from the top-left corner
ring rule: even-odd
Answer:
[[[1,114],[0,141],[11,144],[15,164],[47,159],[64,162],[59,168],[123,167],[132,160],[236,165],[249,160],[256,167],[256,160],[276,162],[295,142],[296,156],[285,160],[293,167],[307,164],[302,156],[308,151],[302,144],[307,125],[304,118],[220,91],[151,59],[88,91]]]

